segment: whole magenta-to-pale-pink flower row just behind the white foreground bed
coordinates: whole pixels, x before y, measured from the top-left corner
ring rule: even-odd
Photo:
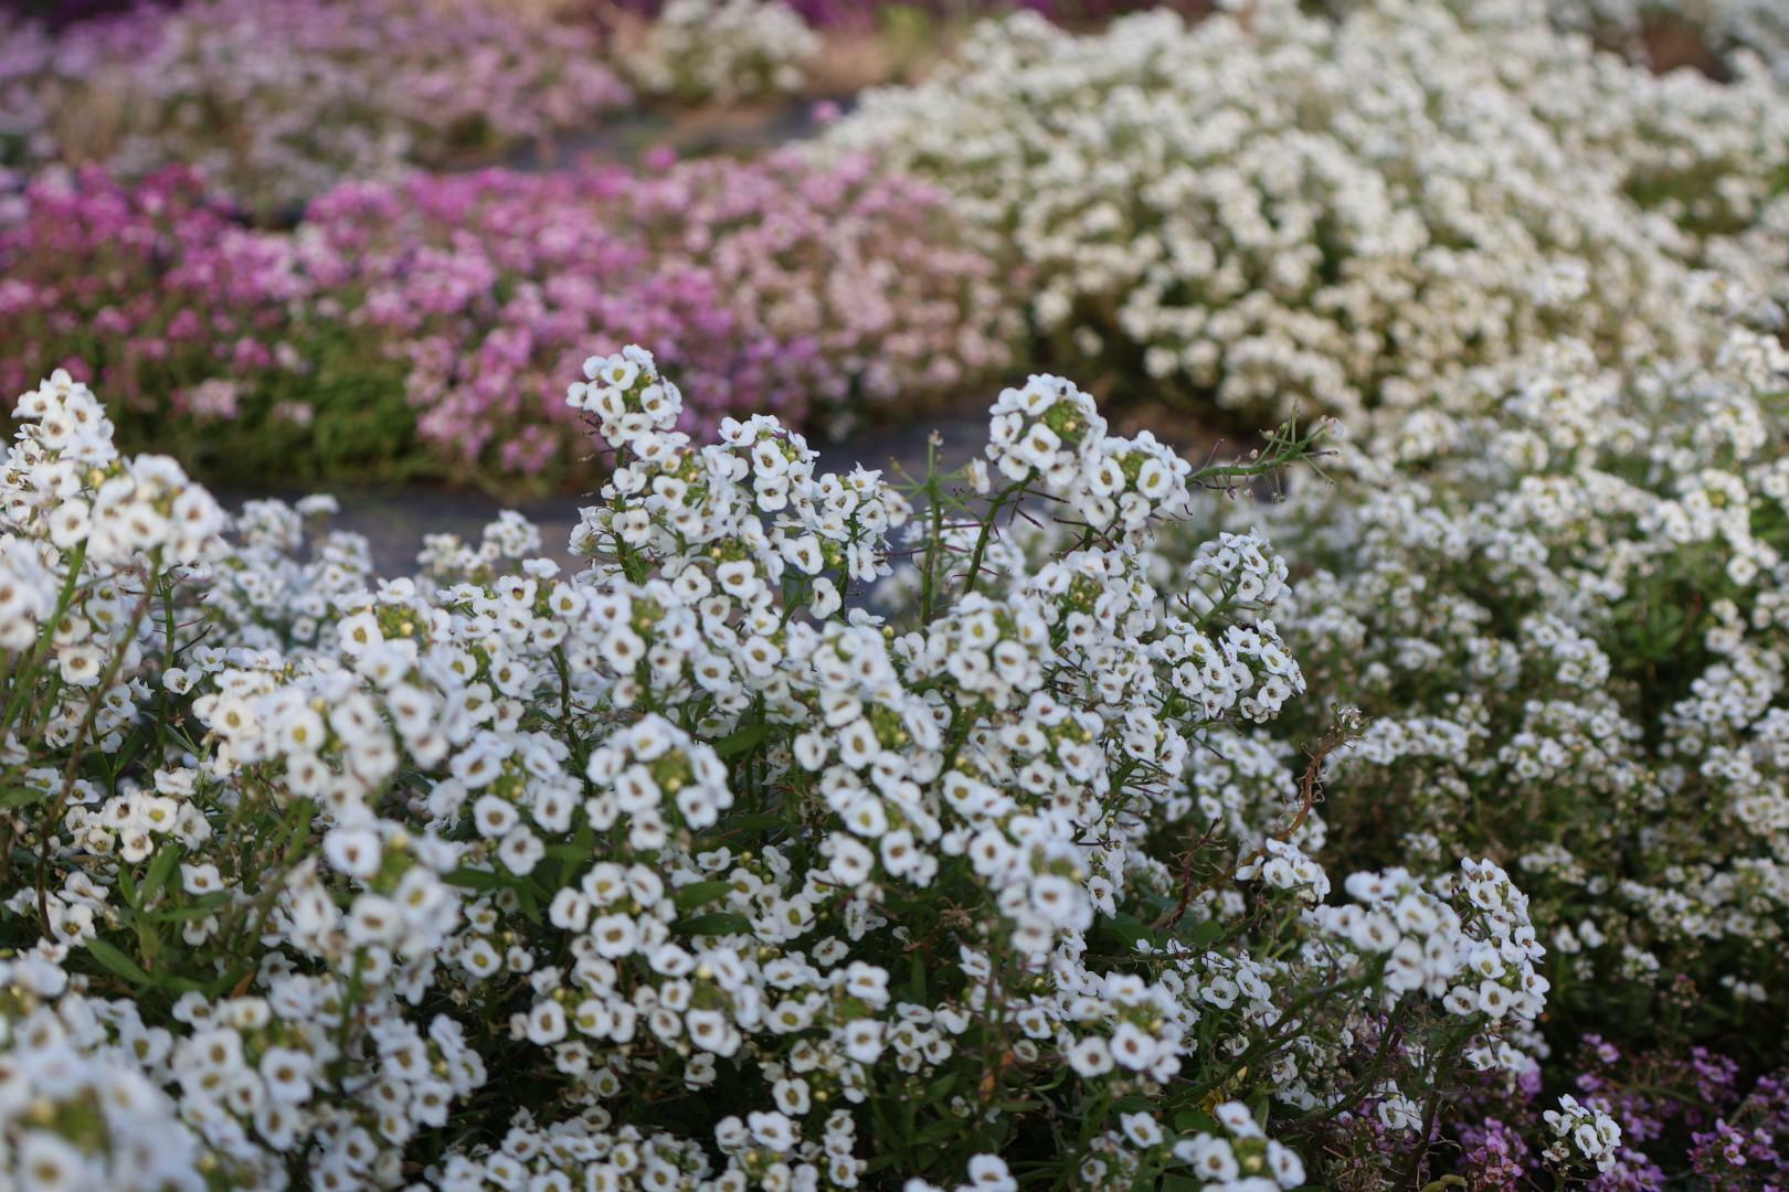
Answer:
[[[581,432],[556,379],[590,343],[660,345],[712,425],[962,391],[1020,334],[943,200],[862,161],[347,182],[292,232],[242,225],[186,170],[48,175],[0,204],[0,384],[68,368],[157,441],[276,404],[327,418],[304,400],[327,341],[403,365],[394,404],[442,470],[560,479]]]

